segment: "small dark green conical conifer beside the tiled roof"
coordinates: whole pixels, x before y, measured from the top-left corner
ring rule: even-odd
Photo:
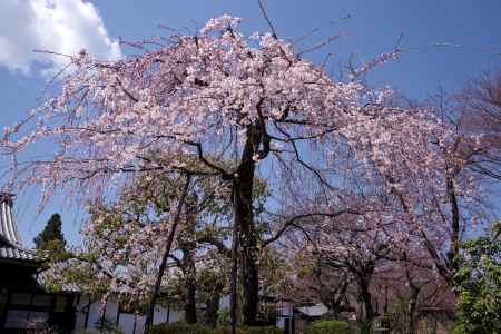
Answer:
[[[65,253],[66,240],[61,225],[62,222],[59,214],[50,216],[43,230],[33,239],[37,252],[51,256]]]

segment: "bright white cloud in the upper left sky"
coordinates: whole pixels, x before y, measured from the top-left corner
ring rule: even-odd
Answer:
[[[0,66],[29,75],[67,63],[65,57],[33,50],[75,55],[81,49],[101,60],[121,58],[120,46],[106,31],[92,3],[85,0],[0,0]]]

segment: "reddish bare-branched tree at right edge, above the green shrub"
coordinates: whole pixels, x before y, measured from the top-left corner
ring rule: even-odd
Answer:
[[[456,259],[462,242],[479,226],[489,226],[493,218],[489,214],[488,196],[498,193],[492,180],[501,179],[500,78],[499,72],[487,72],[468,80],[456,94],[439,89],[424,102],[453,137],[441,148],[435,141],[446,167],[442,176],[443,189],[435,188],[443,195],[430,189],[428,196],[423,196],[423,206],[430,212],[428,219],[433,225],[429,224],[418,234],[451,288],[455,285],[453,276],[460,269]],[[402,190],[394,194],[404,208],[409,195]],[[444,205],[438,205],[440,197]],[[409,217],[415,219],[415,215]],[[433,242],[434,235],[445,239]]]

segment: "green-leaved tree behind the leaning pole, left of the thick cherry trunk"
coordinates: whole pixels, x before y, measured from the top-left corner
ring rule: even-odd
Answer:
[[[98,245],[96,250],[101,262],[114,263],[117,271],[127,269],[143,282],[137,286],[139,295],[148,295],[154,277],[158,275],[158,261],[161,258],[159,252],[163,252],[158,245],[163,244],[161,238],[165,237],[163,230],[171,228],[171,205],[180,196],[180,183],[181,177],[176,173],[143,174],[122,189],[118,203],[104,204],[97,206],[99,209],[92,209],[94,232],[87,235],[88,240]],[[224,230],[227,229],[229,220],[227,209],[224,209],[225,206],[228,207],[224,202],[226,197],[220,193],[216,194],[222,191],[220,188],[225,190],[225,187],[210,177],[194,178],[181,210],[173,248],[168,254],[174,262],[168,264],[167,277],[163,284],[176,281],[179,301],[188,323],[197,322],[196,264],[205,257],[204,245],[222,252],[225,247]],[[110,214],[118,224],[109,222]],[[110,226],[116,228],[110,229]],[[115,247],[118,252],[111,258],[108,258],[107,254],[109,247]],[[116,284],[120,285],[120,282],[117,281]]]

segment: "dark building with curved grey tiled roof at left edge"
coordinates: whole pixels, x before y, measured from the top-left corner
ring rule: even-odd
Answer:
[[[38,283],[42,261],[22,247],[12,217],[13,195],[0,193],[0,333],[73,328],[72,293],[49,294]]]

